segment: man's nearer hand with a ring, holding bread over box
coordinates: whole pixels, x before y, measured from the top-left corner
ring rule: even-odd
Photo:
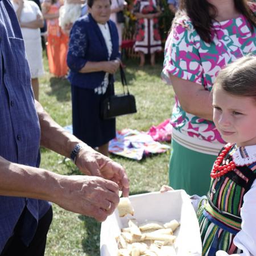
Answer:
[[[60,193],[56,192],[53,203],[97,221],[106,220],[119,203],[118,185],[101,177],[61,176],[59,184]]]

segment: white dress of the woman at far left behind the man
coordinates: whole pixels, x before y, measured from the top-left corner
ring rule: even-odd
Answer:
[[[12,3],[16,11],[18,5],[14,2]],[[22,13],[20,14],[20,22],[31,22],[36,19],[37,15],[42,15],[38,5],[33,1],[24,0]],[[22,27],[21,31],[25,43],[28,64],[30,65],[31,78],[34,79],[44,74],[40,28]]]

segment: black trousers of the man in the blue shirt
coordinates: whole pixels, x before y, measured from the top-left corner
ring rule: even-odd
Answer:
[[[38,228],[30,245],[27,247],[20,240],[23,214],[15,226],[14,234],[9,238],[0,256],[43,256],[46,249],[46,238],[52,222],[52,208],[38,221]]]

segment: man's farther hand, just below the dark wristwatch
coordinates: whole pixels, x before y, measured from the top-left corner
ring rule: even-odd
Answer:
[[[86,175],[114,181],[123,192],[122,195],[129,196],[129,180],[125,169],[112,159],[86,146],[77,154],[76,165]]]

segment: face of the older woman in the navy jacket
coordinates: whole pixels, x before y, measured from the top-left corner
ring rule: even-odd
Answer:
[[[95,0],[92,8],[89,7],[88,10],[97,23],[105,24],[111,14],[110,0]]]

